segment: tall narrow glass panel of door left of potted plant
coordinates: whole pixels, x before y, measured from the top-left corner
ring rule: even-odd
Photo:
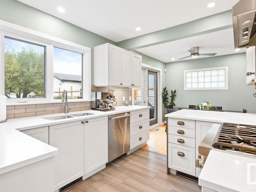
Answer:
[[[150,125],[157,123],[157,73],[148,71],[148,106],[150,109]]]

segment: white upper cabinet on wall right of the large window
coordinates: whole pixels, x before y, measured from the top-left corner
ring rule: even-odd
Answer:
[[[141,87],[141,56],[111,44],[94,47],[94,85]]]

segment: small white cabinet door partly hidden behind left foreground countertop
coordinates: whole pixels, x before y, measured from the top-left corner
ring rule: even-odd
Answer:
[[[39,141],[49,144],[49,127],[48,126],[39,127],[31,130],[24,130],[21,132],[35,139],[38,139]]]

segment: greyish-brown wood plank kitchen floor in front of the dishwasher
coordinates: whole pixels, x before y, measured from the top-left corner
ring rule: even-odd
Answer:
[[[123,155],[67,192],[199,192],[198,183],[166,174],[166,156],[145,150]]]

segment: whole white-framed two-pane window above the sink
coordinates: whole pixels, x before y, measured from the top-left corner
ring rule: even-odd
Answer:
[[[7,103],[91,101],[91,48],[0,23],[0,95]]]

